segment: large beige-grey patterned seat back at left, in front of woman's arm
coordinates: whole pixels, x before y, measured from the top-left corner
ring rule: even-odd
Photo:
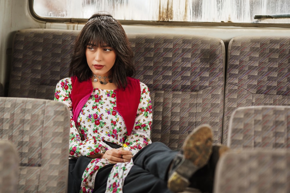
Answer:
[[[66,192],[70,115],[62,102],[0,97],[0,139],[19,155],[18,192]]]

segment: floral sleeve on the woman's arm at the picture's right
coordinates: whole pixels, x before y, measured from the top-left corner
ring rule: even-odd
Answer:
[[[140,82],[141,97],[135,118],[135,125],[125,144],[131,148],[133,155],[144,146],[151,144],[152,106],[148,87]]]

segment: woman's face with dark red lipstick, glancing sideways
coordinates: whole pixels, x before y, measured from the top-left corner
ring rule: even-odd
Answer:
[[[97,76],[111,75],[116,56],[115,50],[108,45],[102,47],[87,45],[86,47],[87,63],[91,71]]]

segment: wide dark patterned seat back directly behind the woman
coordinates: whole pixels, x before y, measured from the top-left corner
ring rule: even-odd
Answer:
[[[79,31],[19,30],[14,37],[8,97],[53,99],[68,77]],[[148,85],[153,103],[152,141],[181,148],[200,124],[222,139],[225,46],[221,39],[182,34],[128,33],[135,54],[135,78]],[[162,129],[161,129],[162,128]]]

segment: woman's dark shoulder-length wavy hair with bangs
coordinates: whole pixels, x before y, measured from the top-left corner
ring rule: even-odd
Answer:
[[[96,13],[90,19],[100,16],[110,16],[110,14]],[[93,19],[86,23],[77,36],[72,60],[70,62],[69,76],[76,76],[80,82],[88,80],[92,76],[87,60],[87,45],[103,46],[104,44],[112,47],[116,52],[115,64],[112,67],[111,80],[117,88],[126,88],[127,77],[135,76],[133,63],[133,51],[130,42],[122,25],[116,19],[106,17]]]

